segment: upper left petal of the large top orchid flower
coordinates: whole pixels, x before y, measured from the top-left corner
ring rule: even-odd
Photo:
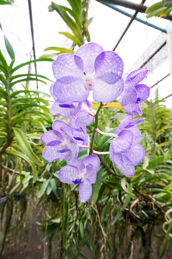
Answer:
[[[58,55],[52,64],[53,74],[56,79],[73,75],[83,77],[83,68],[82,58],[70,53]]]

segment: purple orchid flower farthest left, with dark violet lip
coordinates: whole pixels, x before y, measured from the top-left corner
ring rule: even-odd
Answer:
[[[60,120],[54,121],[52,128],[41,136],[41,141],[45,144],[43,158],[48,162],[56,159],[66,159],[72,162],[79,152],[77,140],[73,136],[74,129]]]

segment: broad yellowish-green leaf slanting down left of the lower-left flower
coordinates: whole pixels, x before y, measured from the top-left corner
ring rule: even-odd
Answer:
[[[31,159],[31,161],[33,161],[33,163],[43,165],[39,157],[37,157],[37,155],[33,152],[26,136],[22,133],[22,131],[18,128],[13,128],[13,130],[20,146],[22,147],[22,151]]]

